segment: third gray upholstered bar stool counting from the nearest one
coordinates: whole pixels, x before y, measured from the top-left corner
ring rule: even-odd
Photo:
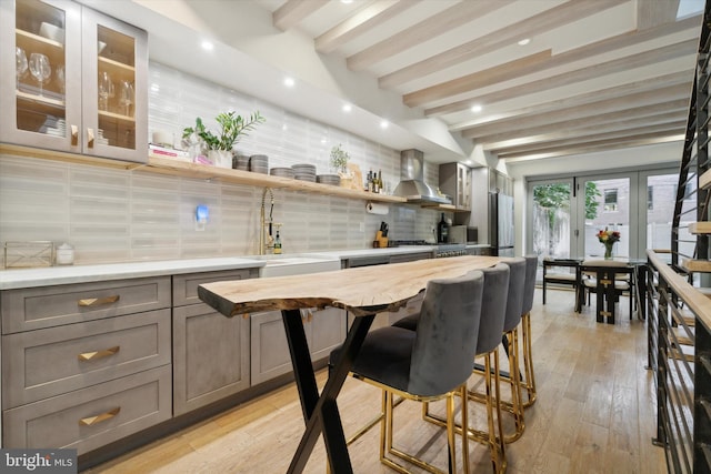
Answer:
[[[519,373],[519,324],[521,323],[521,309],[523,307],[523,292],[525,284],[525,260],[522,258],[508,259],[503,262],[509,266],[509,286],[507,291],[505,317],[503,322],[503,335],[501,341],[509,359],[509,374],[500,375],[511,389],[511,401],[499,403],[502,409],[513,415],[514,431],[504,434],[504,441],[512,443],[523,434],[523,404],[521,401],[521,377]],[[474,366],[474,373],[484,374],[485,369]],[[487,402],[484,393],[470,391],[469,396],[477,402]]]

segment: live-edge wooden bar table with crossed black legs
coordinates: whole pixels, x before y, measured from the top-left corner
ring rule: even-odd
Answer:
[[[200,285],[198,295],[228,317],[260,311],[281,311],[307,424],[288,472],[303,471],[322,432],[331,472],[352,473],[336,397],[374,315],[404,306],[427,288],[430,280],[461,276],[472,270],[493,266],[500,261],[498,256],[454,256],[309,275],[214,282]],[[299,312],[300,309],[314,306],[341,307],[358,316],[348,331],[343,350],[320,395]]]

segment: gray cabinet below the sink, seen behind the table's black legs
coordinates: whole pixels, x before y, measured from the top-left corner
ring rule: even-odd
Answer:
[[[291,356],[280,311],[254,313],[251,321],[252,385],[292,371]],[[337,307],[304,310],[301,321],[311,351],[311,360],[328,357],[346,339],[346,311]]]

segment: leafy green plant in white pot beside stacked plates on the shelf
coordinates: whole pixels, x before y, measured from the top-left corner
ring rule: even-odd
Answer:
[[[253,130],[258,124],[264,122],[264,118],[259,111],[249,118],[238,115],[237,112],[221,112],[216,117],[220,131],[216,134],[208,130],[201,118],[196,119],[194,127],[187,127],[182,131],[183,141],[189,145],[200,144],[208,153],[208,158],[218,167],[232,168],[232,148]]]

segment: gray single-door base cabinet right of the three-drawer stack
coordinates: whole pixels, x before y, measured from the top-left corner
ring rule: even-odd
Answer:
[[[201,303],[198,285],[256,276],[251,269],[173,276],[174,415],[249,387],[249,320],[226,317]]]

